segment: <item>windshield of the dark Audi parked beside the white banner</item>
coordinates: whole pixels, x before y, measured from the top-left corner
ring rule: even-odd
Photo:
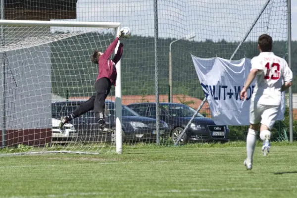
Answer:
[[[163,104],[161,106],[168,114],[174,117],[192,117],[196,112],[194,108],[184,104]],[[203,115],[198,113],[196,117],[203,117]]]

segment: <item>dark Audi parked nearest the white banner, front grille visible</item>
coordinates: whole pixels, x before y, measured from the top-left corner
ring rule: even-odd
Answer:
[[[143,102],[128,104],[128,107],[141,116],[155,118],[155,103]],[[160,119],[168,124],[172,140],[176,142],[177,137],[185,129],[196,112],[195,109],[181,103],[160,102]],[[205,118],[198,113],[193,120],[181,142],[187,141],[229,141],[229,128],[224,125],[216,125],[211,118]]]

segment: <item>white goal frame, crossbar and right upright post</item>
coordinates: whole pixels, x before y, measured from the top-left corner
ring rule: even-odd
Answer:
[[[89,28],[114,28],[114,35],[120,31],[119,22],[81,22],[81,21],[39,21],[39,20],[4,20],[0,19],[0,26],[42,26],[42,27],[89,27]],[[2,36],[1,36],[2,37]],[[115,53],[119,43],[116,46]],[[121,61],[116,64],[117,79],[115,86],[115,134],[116,152],[122,153],[122,88],[121,88]],[[69,151],[68,151],[69,152]],[[77,153],[77,152],[76,152]]]

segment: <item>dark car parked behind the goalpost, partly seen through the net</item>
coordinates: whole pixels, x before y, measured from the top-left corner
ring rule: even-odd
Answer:
[[[52,118],[59,119],[68,115],[84,101],[62,101],[51,104]],[[115,128],[115,102],[105,100],[105,120],[107,126]],[[115,142],[115,131],[112,133],[99,132],[99,125],[96,122],[94,111],[91,110],[78,118],[69,122],[73,124],[78,132],[79,142]],[[156,120],[142,117],[132,109],[122,105],[122,134],[123,141],[155,141],[156,140]],[[109,135],[110,134],[110,135]],[[161,122],[161,137],[169,137],[169,128],[166,122]]]

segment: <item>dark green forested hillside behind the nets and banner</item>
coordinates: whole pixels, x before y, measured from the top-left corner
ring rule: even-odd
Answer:
[[[83,34],[80,39],[68,38],[52,43],[52,92],[65,96],[69,90],[70,97],[90,96],[98,74],[98,66],[91,63],[91,55],[95,49],[103,51],[113,40],[112,35],[95,33]],[[168,93],[169,45],[175,39],[159,39],[159,93]],[[106,42],[106,43],[105,43]],[[132,36],[121,41],[124,44],[122,56],[122,94],[148,95],[155,94],[154,38]],[[186,87],[189,96],[204,98],[198,77],[193,66],[191,54],[202,57],[222,57],[229,59],[238,46],[238,42],[211,40],[192,42],[180,40],[172,46],[173,94],[183,94]],[[274,52],[283,57],[287,43],[276,41]],[[255,42],[245,42],[234,59],[252,58],[258,54]],[[292,53],[297,53],[297,42],[292,44]],[[292,57],[292,64],[297,64],[297,56]],[[297,72],[297,68],[293,68]],[[297,81],[297,78],[294,79]],[[293,90],[297,91],[297,83]],[[65,89],[61,89],[65,88]],[[114,90],[112,93],[114,94]]]

